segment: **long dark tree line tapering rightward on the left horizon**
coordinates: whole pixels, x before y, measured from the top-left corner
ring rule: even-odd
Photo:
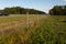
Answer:
[[[12,7],[12,8],[4,8],[3,10],[0,10],[0,12],[9,13],[9,14],[45,14],[43,11],[38,11],[35,9],[25,9],[21,7]]]

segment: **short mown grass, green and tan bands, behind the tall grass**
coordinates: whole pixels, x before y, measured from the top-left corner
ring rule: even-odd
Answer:
[[[29,15],[29,22],[33,22],[33,21],[37,21],[37,16],[38,19],[42,19],[44,15]],[[45,16],[44,16],[45,18]],[[10,28],[16,28],[20,26],[21,24],[25,24],[28,23],[28,15],[9,15],[9,16],[0,16],[0,30],[3,29],[10,29]],[[3,22],[4,21],[4,22]]]

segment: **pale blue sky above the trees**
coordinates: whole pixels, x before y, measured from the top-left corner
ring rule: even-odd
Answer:
[[[54,6],[65,6],[66,0],[0,0],[0,9],[22,7],[36,9],[48,13]]]

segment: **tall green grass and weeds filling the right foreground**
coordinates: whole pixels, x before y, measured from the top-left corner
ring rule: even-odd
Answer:
[[[44,20],[32,34],[31,44],[66,44],[66,15],[54,15]]]

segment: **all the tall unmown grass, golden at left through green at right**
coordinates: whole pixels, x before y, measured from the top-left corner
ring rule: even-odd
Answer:
[[[52,15],[0,32],[0,44],[66,44],[66,15]]]

